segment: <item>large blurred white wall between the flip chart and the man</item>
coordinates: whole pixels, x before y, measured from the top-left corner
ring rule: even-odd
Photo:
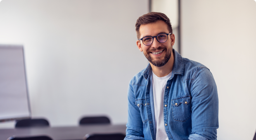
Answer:
[[[0,44],[24,45],[32,117],[125,124],[128,83],[147,65],[135,33],[147,12],[148,0],[2,0]]]

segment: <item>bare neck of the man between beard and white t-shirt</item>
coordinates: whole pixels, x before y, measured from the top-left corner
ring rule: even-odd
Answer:
[[[171,58],[164,66],[156,67],[152,63],[150,63],[150,65],[152,67],[152,71],[154,72],[154,74],[157,77],[164,77],[164,76],[168,75],[169,73],[171,73],[171,71],[173,70],[173,63],[174,63],[174,56],[173,56],[173,51],[172,51]]]

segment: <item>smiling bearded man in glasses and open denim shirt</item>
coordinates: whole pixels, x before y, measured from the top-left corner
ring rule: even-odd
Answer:
[[[149,65],[129,84],[125,140],[216,140],[218,93],[210,70],[173,49],[165,14],[150,12],[135,26]]]

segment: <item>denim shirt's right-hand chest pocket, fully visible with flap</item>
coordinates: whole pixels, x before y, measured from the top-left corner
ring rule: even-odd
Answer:
[[[171,100],[173,119],[175,121],[187,121],[191,117],[190,96],[181,96]]]

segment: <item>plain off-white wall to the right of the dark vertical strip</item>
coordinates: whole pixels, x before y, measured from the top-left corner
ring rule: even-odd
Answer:
[[[218,87],[218,140],[256,130],[256,2],[182,0],[183,57],[206,65]]]

